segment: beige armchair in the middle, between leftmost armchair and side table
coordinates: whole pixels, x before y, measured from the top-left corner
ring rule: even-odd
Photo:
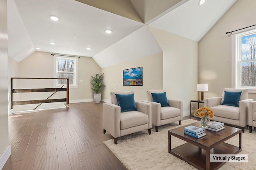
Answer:
[[[170,106],[167,104],[167,106],[161,107],[160,103],[154,102],[151,93],[163,94],[164,92],[165,90],[148,90],[148,100],[142,101],[152,105],[152,125],[156,127],[156,132],[161,125],[166,125],[174,121],[179,121],[180,125],[183,119],[183,101],[168,100],[166,95],[164,95]]]

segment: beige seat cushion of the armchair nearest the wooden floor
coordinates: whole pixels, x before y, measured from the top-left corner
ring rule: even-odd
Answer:
[[[148,123],[148,115],[140,111],[127,111],[120,115],[121,129],[127,129]]]

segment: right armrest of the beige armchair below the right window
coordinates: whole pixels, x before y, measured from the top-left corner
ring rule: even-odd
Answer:
[[[245,127],[248,125],[248,106],[252,99],[245,99],[239,101],[239,125]]]

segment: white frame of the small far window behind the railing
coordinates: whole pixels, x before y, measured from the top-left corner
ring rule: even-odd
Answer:
[[[57,56],[54,56],[54,68],[53,68],[53,76],[54,78],[58,78],[57,77],[57,73],[58,73],[58,70],[57,70],[57,64],[58,64],[58,59],[68,59],[68,60],[73,60],[74,61],[74,80],[73,80],[73,85],[69,85],[70,88],[78,88],[78,58],[77,57],[57,57]],[[57,84],[58,83],[58,80],[55,80],[54,81],[54,87],[61,87],[63,86],[63,84]],[[64,86],[66,88],[66,85]]]

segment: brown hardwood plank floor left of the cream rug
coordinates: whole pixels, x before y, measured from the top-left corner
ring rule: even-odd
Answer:
[[[9,116],[11,156],[2,170],[126,170],[104,145],[102,103]]]

